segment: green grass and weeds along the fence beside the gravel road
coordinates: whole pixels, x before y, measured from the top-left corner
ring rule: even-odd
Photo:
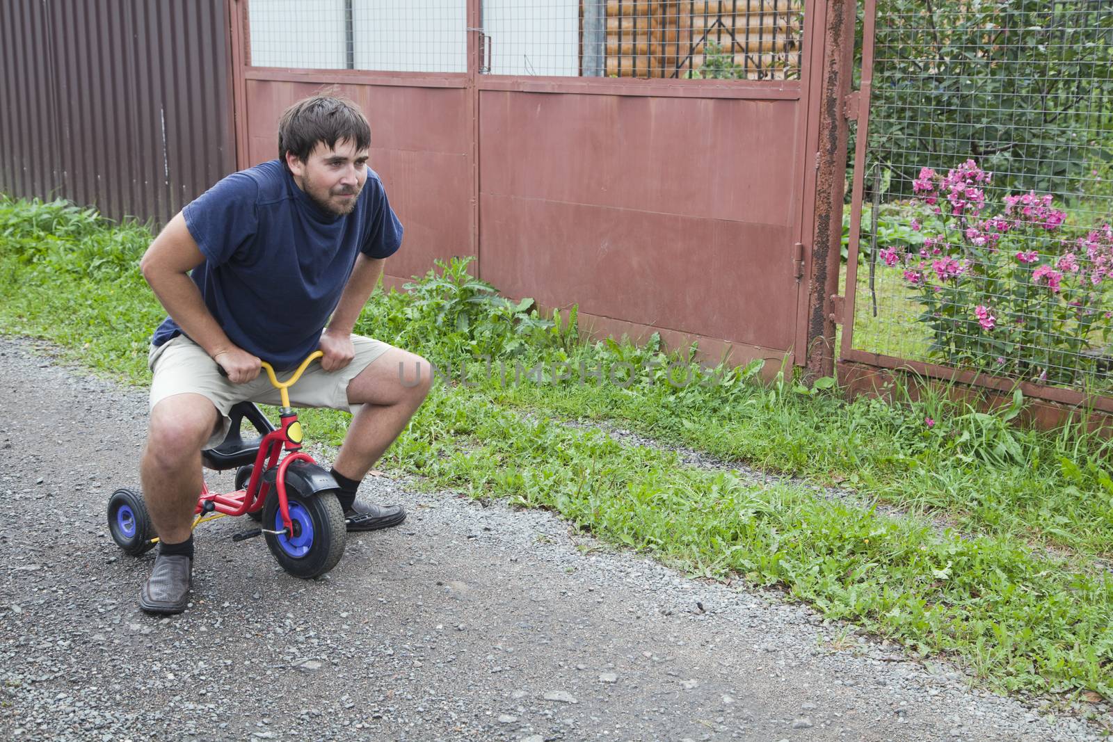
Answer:
[[[147,337],[162,317],[136,269],[149,233],[83,214],[0,200],[0,328],[145,383]],[[790,374],[758,384],[754,367],[673,388],[660,367],[684,353],[584,344],[574,316],[552,321],[501,300],[460,264],[407,295],[377,294],[357,328],[457,373],[473,359],[474,386],[435,386],[384,462],[424,486],[551,508],[692,575],[779,585],[996,687],[1113,694],[1113,581],[1094,566],[1113,550],[1113,479],[1095,436],[1022,431],[1008,424],[1015,409],[982,415],[942,396],[846,403]],[[506,384],[475,360],[483,354],[511,367],[660,367],[624,388],[551,374]],[[307,410],[303,422],[312,438],[337,443],[344,417]],[[555,422],[565,418],[614,422],[863,497],[692,468]],[[880,514],[870,497],[907,514]]]

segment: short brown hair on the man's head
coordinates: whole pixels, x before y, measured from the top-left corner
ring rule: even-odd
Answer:
[[[344,139],[354,141],[356,149],[371,147],[371,125],[359,107],[337,96],[305,98],[283,111],[278,121],[278,159],[288,172],[286,152],[305,162],[317,142],[335,149]]]

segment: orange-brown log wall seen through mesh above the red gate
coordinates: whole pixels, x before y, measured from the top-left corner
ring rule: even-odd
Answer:
[[[799,75],[802,0],[605,1],[608,77],[699,77],[708,41],[748,79]]]

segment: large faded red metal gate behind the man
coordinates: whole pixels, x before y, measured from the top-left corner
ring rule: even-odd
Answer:
[[[577,304],[599,334],[804,363],[809,301],[834,293],[810,247],[825,4],[809,3],[798,79],[774,80],[487,73],[500,47],[480,0],[463,71],[255,67],[248,1],[229,9],[238,165],[276,156],[294,100],[323,85],[356,100],[406,227],[392,285],[472,256],[501,291]]]

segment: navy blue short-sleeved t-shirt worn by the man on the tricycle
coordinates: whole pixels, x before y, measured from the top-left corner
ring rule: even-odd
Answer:
[[[402,244],[402,224],[371,168],[346,216],[317,206],[278,160],[224,178],[183,216],[205,255],[190,274],[205,306],[228,339],[276,368],[317,349],[356,253],[385,258]],[[180,334],[167,317],[151,343]]]

